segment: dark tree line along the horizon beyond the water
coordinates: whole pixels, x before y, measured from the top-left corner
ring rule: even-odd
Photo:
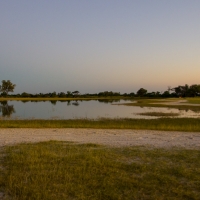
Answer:
[[[184,85],[184,86],[177,86],[174,88],[168,87],[168,89],[164,92],[154,91],[148,92],[145,88],[140,88],[136,93],[123,93],[120,92],[113,92],[113,91],[104,91],[99,93],[87,93],[81,94],[78,90],[76,91],[67,91],[67,92],[52,92],[52,93],[37,93],[37,94],[30,94],[27,92],[23,92],[21,94],[13,94],[9,95],[9,92],[13,92],[14,88],[16,87],[10,80],[3,80],[2,85],[0,85],[0,97],[31,97],[31,98],[52,98],[52,97],[60,97],[60,98],[77,98],[77,97],[148,97],[148,98],[169,98],[169,97],[196,97],[200,96],[200,85],[193,84],[193,85]]]

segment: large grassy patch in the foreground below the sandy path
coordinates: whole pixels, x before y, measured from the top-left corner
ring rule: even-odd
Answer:
[[[0,191],[8,199],[199,199],[200,151],[108,148],[66,142],[2,150]]]

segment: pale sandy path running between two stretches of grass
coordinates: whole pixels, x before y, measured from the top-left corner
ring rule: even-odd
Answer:
[[[49,140],[96,143],[111,146],[150,145],[200,149],[200,132],[111,129],[0,129],[0,147],[21,142]]]

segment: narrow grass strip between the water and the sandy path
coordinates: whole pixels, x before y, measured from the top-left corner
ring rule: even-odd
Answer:
[[[0,120],[0,128],[96,128],[200,131],[200,118]]]

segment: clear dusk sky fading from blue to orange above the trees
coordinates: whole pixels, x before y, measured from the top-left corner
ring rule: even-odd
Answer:
[[[1,0],[2,80],[14,93],[200,84],[200,1]]]

